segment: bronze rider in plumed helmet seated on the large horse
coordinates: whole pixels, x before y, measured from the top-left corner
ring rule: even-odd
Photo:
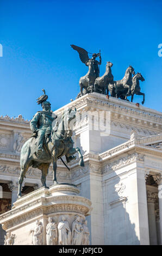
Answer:
[[[45,94],[45,90],[42,89],[44,95],[37,99],[37,103],[41,104],[42,111],[36,112],[32,121],[30,122],[30,129],[33,132],[32,137],[36,137],[36,154],[40,155],[43,151],[43,142],[52,131],[52,122],[57,116],[51,111],[51,103],[46,101],[48,96]]]

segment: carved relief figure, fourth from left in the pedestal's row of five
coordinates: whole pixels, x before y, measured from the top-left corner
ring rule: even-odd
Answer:
[[[83,242],[83,226],[80,223],[80,217],[76,216],[75,220],[72,223],[72,237],[73,245],[82,245]]]

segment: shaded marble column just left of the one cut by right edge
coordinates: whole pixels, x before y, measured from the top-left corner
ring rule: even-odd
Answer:
[[[155,220],[155,200],[157,200],[157,193],[147,191],[147,209],[148,209],[148,227],[149,227],[150,245],[158,245],[157,226],[156,226],[156,220]]]

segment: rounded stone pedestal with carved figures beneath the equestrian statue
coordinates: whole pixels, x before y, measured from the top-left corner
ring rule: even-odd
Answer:
[[[88,245],[85,217],[90,215],[91,201],[78,193],[72,184],[58,184],[17,199],[12,210],[0,217],[0,224],[7,231],[5,243]]]

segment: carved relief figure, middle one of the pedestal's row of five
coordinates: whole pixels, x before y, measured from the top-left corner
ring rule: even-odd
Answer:
[[[71,230],[66,217],[62,216],[58,224],[59,245],[71,245]]]

